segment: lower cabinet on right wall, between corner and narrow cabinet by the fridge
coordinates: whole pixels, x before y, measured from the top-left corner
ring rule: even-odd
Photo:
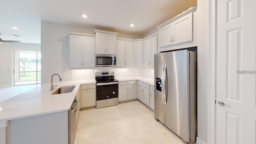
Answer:
[[[144,86],[138,85],[138,99],[147,106],[150,106],[149,98],[149,89]]]

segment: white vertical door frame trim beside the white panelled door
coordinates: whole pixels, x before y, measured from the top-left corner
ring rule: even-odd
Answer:
[[[216,143],[216,4],[208,1],[208,100],[207,144]]]

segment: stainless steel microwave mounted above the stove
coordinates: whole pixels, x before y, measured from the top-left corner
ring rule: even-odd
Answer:
[[[96,67],[116,66],[116,55],[96,54]]]

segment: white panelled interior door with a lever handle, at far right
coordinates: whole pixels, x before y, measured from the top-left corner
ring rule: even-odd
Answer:
[[[216,144],[256,144],[256,0],[217,0],[216,40]]]

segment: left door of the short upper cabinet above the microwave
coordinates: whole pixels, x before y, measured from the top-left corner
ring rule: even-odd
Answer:
[[[95,52],[96,54],[106,54],[107,53],[107,34],[96,32],[95,36]]]

